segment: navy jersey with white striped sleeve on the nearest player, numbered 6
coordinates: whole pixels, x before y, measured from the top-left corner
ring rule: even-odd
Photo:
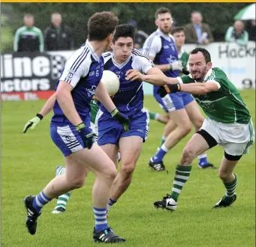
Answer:
[[[56,83],[56,88],[60,81],[67,82],[73,87],[71,95],[74,106],[80,118],[85,122],[86,118],[89,118],[90,101],[101,81],[103,66],[103,58],[98,58],[92,45],[86,40],[86,43],[68,58],[59,81]],[[57,100],[53,106],[53,112],[53,124],[70,124]]]

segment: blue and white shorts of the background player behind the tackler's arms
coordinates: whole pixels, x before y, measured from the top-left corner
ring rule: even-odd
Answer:
[[[179,109],[184,109],[186,105],[194,100],[191,94],[177,92],[176,94],[167,94],[161,98],[159,94],[154,94],[155,100],[165,112],[173,112]]]

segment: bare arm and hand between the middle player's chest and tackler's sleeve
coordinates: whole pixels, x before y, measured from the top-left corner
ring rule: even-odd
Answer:
[[[157,86],[179,82],[176,78],[170,78],[165,76],[164,73],[162,73],[161,70],[159,70],[158,68],[150,69],[146,73],[146,75],[143,75],[138,70],[128,70],[125,76],[127,80],[140,80],[142,82],[148,82],[152,85]]]

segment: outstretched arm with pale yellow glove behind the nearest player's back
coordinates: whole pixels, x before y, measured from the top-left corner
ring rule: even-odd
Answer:
[[[31,120],[29,120],[24,128],[23,128],[23,133],[26,133],[26,131],[31,128],[31,129],[35,129],[36,126],[38,126],[38,124],[41,122],[41,120],[49,113],[53,110],[53,105],[56,101],[56,95],[53,94],[48,100],[47,102],[44,104],[43,108],[41,109],[40,112],[38,112],[38,114],[35,116],[35,118],[32,118]]]

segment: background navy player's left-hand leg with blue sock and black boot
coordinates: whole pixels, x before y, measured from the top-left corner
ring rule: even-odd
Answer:
[[[169,112],[169,117],[171,123],[176,125],[176,128],[170,132],[160,150],[149,161],[149,165],[157,171],[165,168],[163,164],[164,155],[191,131],[191,122],[185,109]]]

